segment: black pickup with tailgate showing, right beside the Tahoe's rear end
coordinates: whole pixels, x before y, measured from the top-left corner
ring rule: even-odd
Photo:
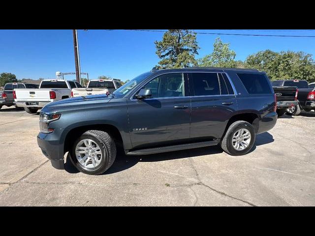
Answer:
[[[274,82],[272,82],[271,84],[273,85]],[[295,106],[299,104],[299,101],[297,100],[297,94],[298,94],[297,87],[273,86],[273,89],[277,97],[278,117],[281,117],[282,115],[284,115],[287,109],[295,109]],[[299,114],[295,114],[295,115],[299,115]]]

